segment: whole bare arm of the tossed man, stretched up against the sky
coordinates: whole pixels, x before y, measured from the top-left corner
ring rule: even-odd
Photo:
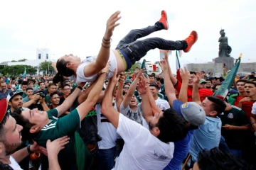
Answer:
[[[97,55],[96,61],[88,64],[84,68],[85,77],[90,77],[94,74],[97,74],[106,66],[110,58],[110,46],[111,46],[110,43],[111,43],[113,30],[116,26],[119,26],[119,23],[116,23],[116,22],[121,18],[120,16],[118,16],[119,13],[120,11],[113,13],[112,16],[110,16],[110,18],[107,20],[107,28],[106,28],[105,35],[102,39],[100,52]]]

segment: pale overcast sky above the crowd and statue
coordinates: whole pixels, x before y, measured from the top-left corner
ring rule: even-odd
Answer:
[[[242,52],[242,62],[256,62],[254,0],[24,0],[0,3],[0,62],[35,60],[36,47],[49,47],[50,57],[55,60],[70,53],[80,57],[97,55],[106,21],[112,13],[119,10],[122,16],[112,36],[114,48],[129,30],[154,25],[162,9],[168,13],[169,30],[152,33],[147,38],[183,40],[191,30],[198,32],[196,45],[191,52],[183,53],[181,63],[211,62],[218,57],[220,28],[225,29],[228,36],[232,57]],[[148,52],[146,60],[159,60],[159,50]]]

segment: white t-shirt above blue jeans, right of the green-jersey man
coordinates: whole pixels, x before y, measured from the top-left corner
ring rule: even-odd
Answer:
[[[117,129],[114,128],[110,122],[102,122],[102,120],[107,120],[107,118],[101,113],[101,105],[97,104],[95,106],[97,113],[97,128],[98,135],[102,137],[102,140],[97,142],[99,149],[110,149],[115,147],[117,140]]]

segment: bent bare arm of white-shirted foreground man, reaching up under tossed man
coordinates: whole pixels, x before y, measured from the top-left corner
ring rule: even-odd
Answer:
[[[101,113],[105,115],[107,120],[109,120],[112,125],[114,125],[114,128],[118,127],[119,112],[116,111],[112,106],[112,94],[120,76],[121,75],[118,75],[117,77],[117,69],[114,69],[114,75],[110,79],[109,85],[107,86],[107,91],[105,92],[105,97],[102,101],[101,109]]]

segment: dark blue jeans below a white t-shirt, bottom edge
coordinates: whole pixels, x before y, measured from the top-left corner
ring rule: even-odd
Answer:
[[[114,154],[116,147],[110,149],[98,149],[97,156],[102,170],[111,170],[114,167]]]

